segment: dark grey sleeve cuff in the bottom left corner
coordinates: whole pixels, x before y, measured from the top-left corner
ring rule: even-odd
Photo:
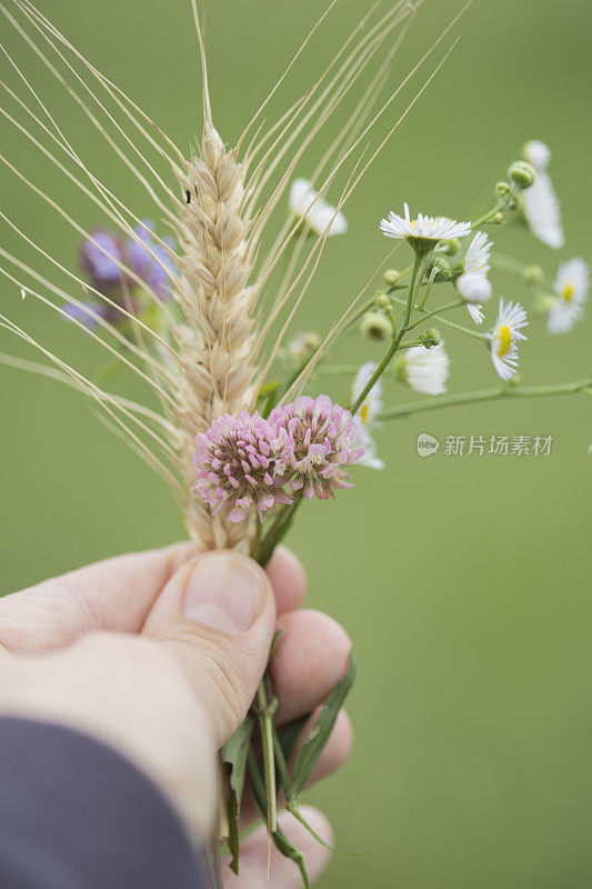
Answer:
[[[2,889],[207,889],[168,800],[123,756],[58,725],[0,718]]]

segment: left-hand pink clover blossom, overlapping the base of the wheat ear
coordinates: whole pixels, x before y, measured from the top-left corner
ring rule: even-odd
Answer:
[[[225,413],[195,438],[193,490],[213,513],[228,507],[230,521],[241,521],[252,508],[263,521],[268,509],[292,502],[278,473],[277,448],[274,427],[259,413],[242,411],[238,419]]]

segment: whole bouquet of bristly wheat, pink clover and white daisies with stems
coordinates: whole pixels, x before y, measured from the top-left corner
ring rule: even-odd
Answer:
[[[231,148],[214,126],[200,18],[192,0],[202,120],[199,147],[189,156],[30,0],[10,0],[8,8],[2,7],[23,48],[34,53],[48,78],[64,87],[96,136],[140,183],[160,221],[155,224],[137,214],[87,167],[29,81],[27,67],[6,52],[14,86],[2,83],[11,102],[11,109],[2,112],[4,119],[107,220],[104,227],[88,231],[37,177],[29,178],[2,156],[8,171],[81,238],[78,268],[71,270],[0,212],[8,229],[39,260],[39,268],[48,269],[40,271],[0,248],[6,301],[16,292],[58,312],[106,350],[109,374],[127,369],[140,379],[147,398],[110,391],[107,372],[97,379],[86,377],[28,332],[16,320],[14,309],[11,317],[0,314],[0,326],[40,351],[52,367],[7,354],[1,360],[50,374],[88,394],[114,431],[177,493],[188,533],[199,549],[240,549],[261,565],[269,561],[305,502],[328,500],[351,488],[357,466],[383,467],[375,438],[387,420],[485,399],[592,394],[591,377],[550,386],[519,382],[520,347],[530,314],[542,320],[551,336],[568,332],[583,317],[589,284],[581,259],[563,263],[551,283],[540,267],[498,252],[490,238],[490,231],[495,231],[498,241],[502,231],[528,226],[549,247],[563,246],[559,202],[549,176],[551,156],[539,141],[529,142],[506,178],[492,183],[492,206],[479,219],[455,221],[421,213],[412,218],[407,203],[400,207],[399,196],[385,196],[382,221],[369,220],[375,224],[377,239],[388,239],[381,268],[361,292],[352,294],[323,336],[317,331],[292,336],[295,314],[328,242],[347,236],[345,202],[443,59],[393,123],[391,112],[402,87],[456,23],[456,19],[451,22],[384,99],[401,39],[422,3],[394,2],[385,11],[375,3],[319,80],[274,122],[265,123],[264,109],[334,3]],[[317,169],[308,171],[310,178],[303,178],[307,149],[333,114],[343,114],[343,103],[360,82],[365,86],[349,114],[340,119],[339,136]],[[384,120],[387,132],[368,154],[368,142]],[[328,201],[330,189],[335,191],[334,203]],[[161,233],[163,229],[168,233]],[[403,268],[384,270],[393,246],[401,248]],[[490,314],[490,272],[495,267],[515,274],[516,286],[525,289],[529,311],[515,299],[500,297]],[[440,299],[442,291],[445,296]],[[332,349],[355,331],[383,343],[381,360],[360,368],[331,364]],[[444,394],[449,334],[474,341],[475,361],[489,356],[492,376],[499,378],[495,386]],[[322,374],[349,378],[347,403],[337,403],[327,392]],[[387,383],[395,382],[430,398],[384,407]],[[304,737],[305,720],[278,729],[271,679],[263,677],[251,712],[221,751],[220,837],[230,846],[237,872],[239,819],[249,776],[271,839],[294,860],[308,886],[302,856],[278,826],[278,798],[281,791],[285,799],[281,805],[303,821],[300,793],[354,671],[352,655],[345,676]],[[218,839],[212,843],[214,885]]]

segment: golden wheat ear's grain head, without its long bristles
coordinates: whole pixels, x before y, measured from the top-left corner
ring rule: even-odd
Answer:
[[[179,455],[188,489],[194,480],[194,438],[222,413],[252,401],[253,288],[244,218],[244,167],[205,119],[201,157],[187,163],[187,203],[178,224],[182,256],[178,296],[188,324],[178,330],[182,368],[175,374]],[[187,506],[187,526],[204,549],[248,549],[252,527],[212,516],[201,498]]]

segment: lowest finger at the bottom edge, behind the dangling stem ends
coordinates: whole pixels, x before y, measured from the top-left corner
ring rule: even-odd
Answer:
[[[302,806],[301,812],[312,829],[325,842],[332,845],[333,836],[329,821],[318,809]],[[304,856],[308,875],[313,882],[319,879],[331,858],[331,852],[314,840],[308,830],[289,812],[279,817],[280,827],[290,842]],[[281,889],[301,889],[302,877],[293,861],[284,858],[272,847],[268,878],[268,833],[264,827],[258,828],[241,846],[239,876],[229,867],[229,859],[222,865],[222,877],[225,889],[269,889],[270,886]]]

